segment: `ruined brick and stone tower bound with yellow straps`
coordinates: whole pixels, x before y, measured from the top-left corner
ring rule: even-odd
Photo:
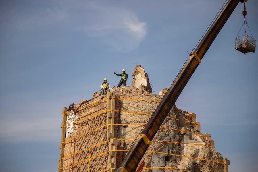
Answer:
[[[64,108],[58,169],[104,172],[118,168],[167,89],[152,94],[149,78],[137,65],[132,86],[111,88]],[[228,171],[229,161],[202,134],[196,114],[174,106],[143,156],[142,171]]]

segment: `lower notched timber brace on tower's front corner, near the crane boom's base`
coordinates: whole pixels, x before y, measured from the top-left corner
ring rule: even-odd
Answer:
[[[117,150],[117,140],[111,139],[109,141],[109,153],[108,153],[108,162],[107,162],[107,168],[115,168],[116,167],[116,151]],[[114,172],[115,169],[110,169],[110,172]]]

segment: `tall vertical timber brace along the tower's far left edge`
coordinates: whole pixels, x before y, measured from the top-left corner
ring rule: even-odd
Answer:
[[[63,158],[64,155],[64,146],[65,144],[62,143],[66,140],[66,112],[67,112],[67,108],[64,107],[62,109],[62,114],[63,114],[63,122],[61,123],[61,128],[62,128],[62,135],[61,135],[61,144],[59,146],[60,149],[60,159]],[[62,168],[63,167],[63,159],[58,160],[58,164],[57,164],[57,169]],[[59,172],[62,172],[63,169],[59,169]]]

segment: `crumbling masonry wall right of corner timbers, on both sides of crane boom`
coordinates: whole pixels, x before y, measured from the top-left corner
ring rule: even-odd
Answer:
[[[165,92],[161,95],[151,94],[143,88],[135,87],[121,87],[114,90],[116,97],[145,99],[160,101]],[[120,123],[118,138],[124,140],[120,141],[121,147],[124,150],[130,148],[133,140],[138,136],[143,129],[142,125],[146,124],[150,115],[158,105],[158,102],[152,101],[138,101],[120,99]],[[144,113],[144,114],[137,114]],[[185,122],[183,122],[185,121]],[[183,111],[172,108],[167,118],[161,125],[157,134],[153,138],[151,146],[143,156],[142,161],[145,161],[145,168],[147,167],[175,167],[187,171],[221,171],[224,172],[224,165],[214,163],[211,161],[223,163],[223,157],[217,152],[214,147],[214,141],[210,139],[209,134],[201,134],[200,124],[196,122],[196,115],[193,117],[186,115]],[[176,130],[173,130],[176,129]],[[193,134],[193,133],[196,134]],[[208,135],[208,137],[206,136]],[[132,140],[131,140],[132,139]],[[176,144],[190,143],[189,144]],[[200,144],[200,145],[195,145]],[[201,146],[202,145],[202,146]],[[207,145],[207,146],[203,146]],[[149,152],[148,152],[149,151]],[[162,152],[167,154],[155,153]],[[123,156],[126,154],[124,152]],[[182,156],[193,156],[199,159],[208,159],[211,161],[204,161],[198,159],[182,158]],[[143,169],[142,171],[180,171],[177,169]]]

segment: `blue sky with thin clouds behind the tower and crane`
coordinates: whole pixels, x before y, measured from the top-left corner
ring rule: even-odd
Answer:
[[[62,108],[91,99],[103,78],[116,86],[114,71],[126,69],[130,85],[137,63],[153,93],[169,88],[223,3],[1,1],[1,169],[57,171]],[[258,168],[258,55],[234,49],[243,7],[238,4],[176,101],[197,114],[201,132],[211,134],[236,172]],[[258,39],[258,2],[249,0],[246,8]]]

